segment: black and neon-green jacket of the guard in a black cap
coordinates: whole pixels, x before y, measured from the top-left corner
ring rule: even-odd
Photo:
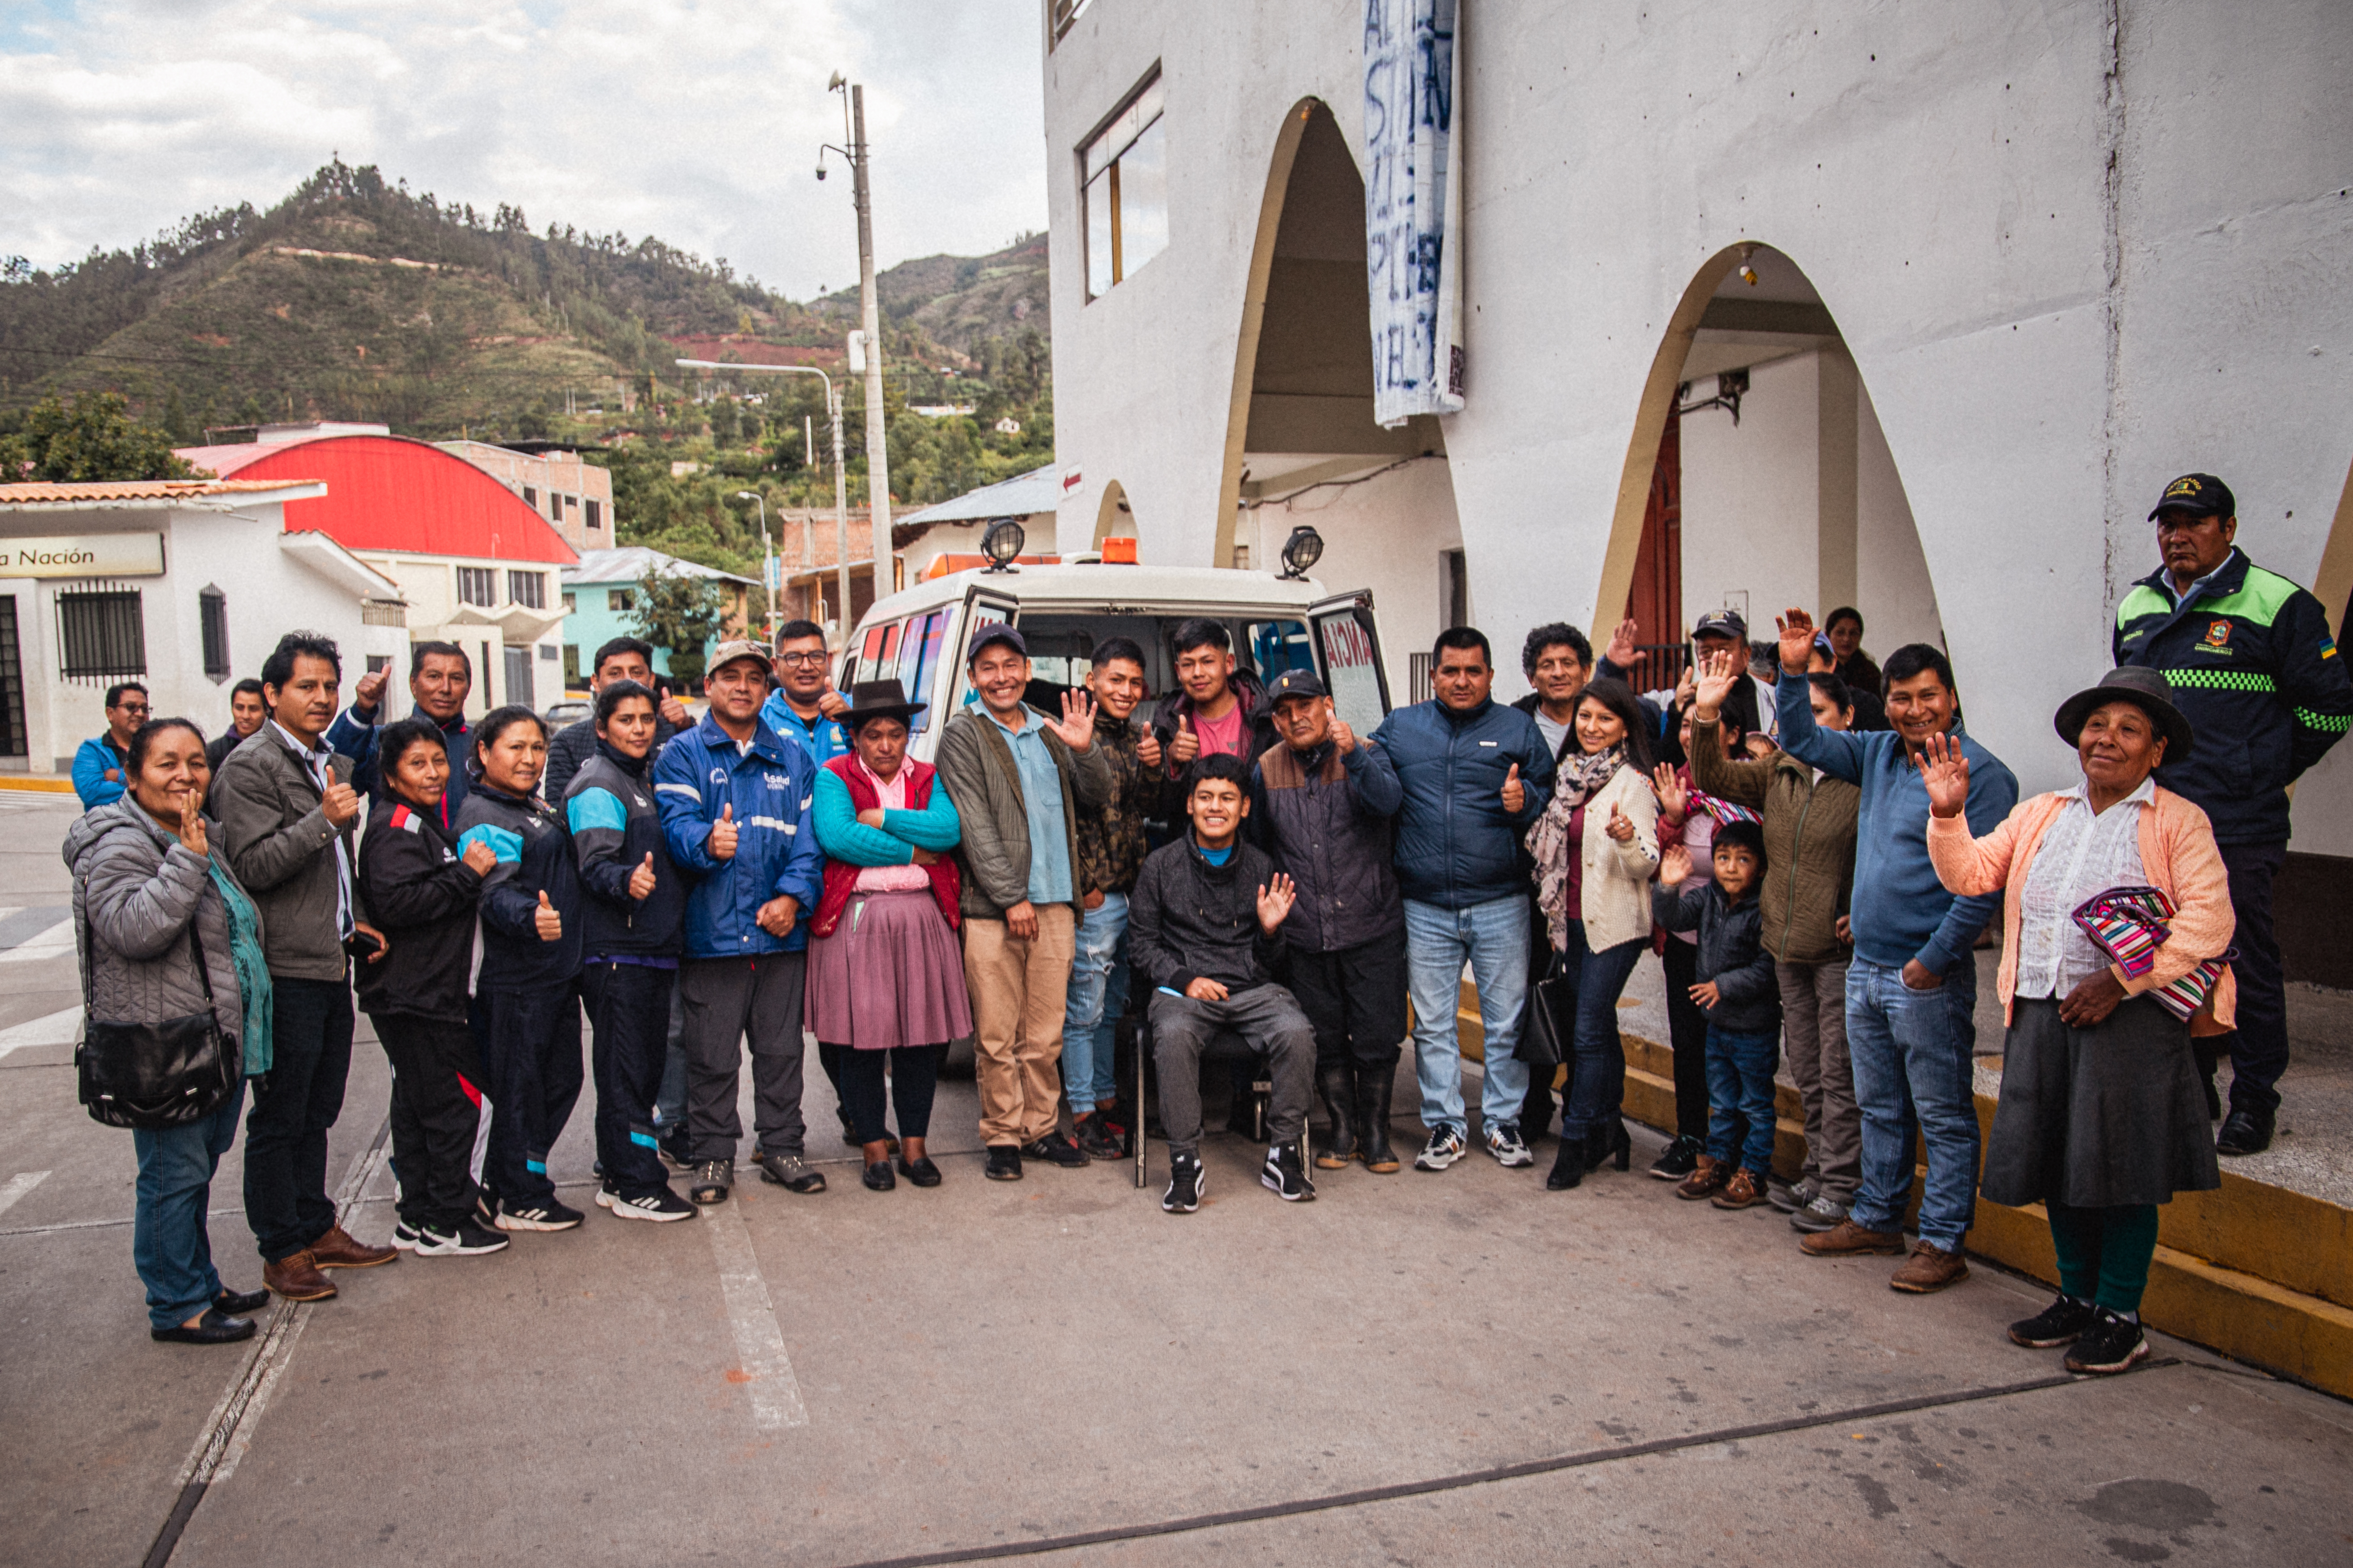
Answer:
[[[2191,722],[2158,783],[2205,809],[2219,844],[2285,844],[2287,785],[2353,726],[2353,677],[2327,611],[2245,550],[2174,604],[2158,567],[2115,607],[2115,663],[2165,675]]]

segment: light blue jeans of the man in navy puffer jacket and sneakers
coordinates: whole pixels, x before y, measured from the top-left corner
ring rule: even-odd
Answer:
[[[1464,910],[1405,900],[1405,985],[1414,997],[1414,1079],[1421,1084],[1421,1124],[1433,1133],[1464,1121],[1464,1053],[1454,1030],[1464,961],[1478,983],[1478,1018],[1487,1037],[1480,1121],[1520,1121],[1527,1063],[1520,1044],[1520,1004],[1527,999],[1527,900],[1489,898]]]

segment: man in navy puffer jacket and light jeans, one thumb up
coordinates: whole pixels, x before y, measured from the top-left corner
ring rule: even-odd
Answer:
[[[1494,701],[1494,654],[1468,625],[1438,632],[1428,703],[1400,708],[1372,743],[1405,790],[1398,809],[1398,886],[1405,893],[1405,983],[1414,997],[1414,1077],[1431,1140],[1417,1171],[1464,1157],[1464,1058],[1454,1011],[1464,964],[1478,980],[1485,1027],[1480,1124],[1504,1166],[1534,1157],[1520,1138],[1527,1063],[1520,1004],[1527,997],[1527,891],[1520,835],[1553,797],[1553,748],[1537,722]]]

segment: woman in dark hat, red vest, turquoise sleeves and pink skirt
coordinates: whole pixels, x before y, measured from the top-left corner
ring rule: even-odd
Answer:
[[[906,755],[906,722],[922,712],[899,682],[859,682],[840,715],[849,755],[816,771],[809,811],[826,851],[826,893],[809,924],[809,1030],[840,1046],[842,1103],[866,1152],[866,1185],[896,1187],[882,1126],[882,1063],[899,1112],[899,1171],[939,1185],[922,1152],[939,1081],[939,1046],[972,1032],[965,959],[955,945],[962,839],[936,776]]]

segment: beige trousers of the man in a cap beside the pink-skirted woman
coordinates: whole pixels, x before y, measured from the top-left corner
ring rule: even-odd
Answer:
[[[1073,945],[1075,919],[1066,903],[1040,905],[1038,936],[1026,940],[1007,933],[1002,919],[965,922],[981,1143],[1035,1143],[1054,1131]]]

